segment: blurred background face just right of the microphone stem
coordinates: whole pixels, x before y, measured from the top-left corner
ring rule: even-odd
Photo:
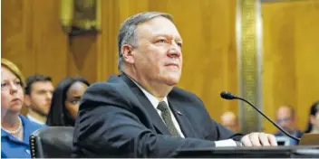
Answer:
[[[295,118],[290,108],[279,108],[277,112],[277,123],[286,131],[291,132],[295,129]]]

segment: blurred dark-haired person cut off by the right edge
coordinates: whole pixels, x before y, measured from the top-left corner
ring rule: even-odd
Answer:
[[[319,134],[319,101],[310,108],[309,122],[304,133]]]

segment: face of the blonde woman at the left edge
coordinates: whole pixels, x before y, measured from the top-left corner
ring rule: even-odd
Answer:
[[[7,113],[20,113],[24,103],[22,82],[14,73],[1,67],[1,117]]]

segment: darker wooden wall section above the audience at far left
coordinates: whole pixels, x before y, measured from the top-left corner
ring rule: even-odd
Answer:
[[[25,76],[43,73],[56,84],[67,76],[97,79],[97,34],[69,41],[60,23],[59,0],[2,0],[2,48]]]

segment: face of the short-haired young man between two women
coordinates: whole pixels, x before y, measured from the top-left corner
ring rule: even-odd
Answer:
[[[47,116],[51,107],[53,96],[53,84],[51,81],[36,81],[31,86],[29,107],[37,113]]]

